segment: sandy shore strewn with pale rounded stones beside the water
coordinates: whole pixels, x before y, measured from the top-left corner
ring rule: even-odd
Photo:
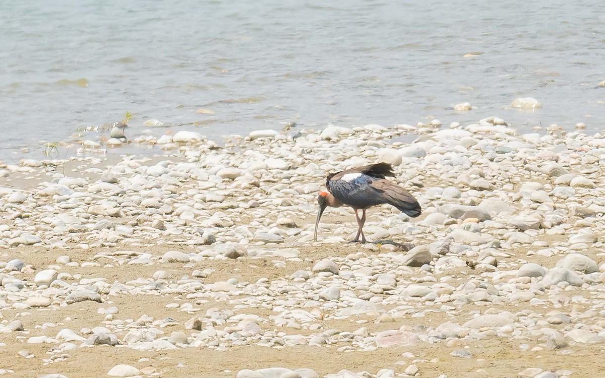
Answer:
[[[549,131],[181,131],[0,165],[0,375],[601,376],[605,139]],[[346,243],[348,208],[313,242],[325,174],[378,161],[424,213],[365,234],[415,247]]]

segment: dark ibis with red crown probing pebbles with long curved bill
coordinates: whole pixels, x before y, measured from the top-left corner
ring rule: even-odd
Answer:
[[[393,167],[388,163],[377,163],[346,169],[345,171],[328,174],[325,189],[319,192],[317,202],[319,211],[315,221],[314,240],[317,241],[319,220],[326,207],[353,207],[359,229],[351,243],[366,243],[364,235],[365,210],[379,204],[390,204],[416,218],[422,212],[420,204],[401,186],[387,180],[394,177]],[[359,217],[358,211],[362,210]],[[359,240],[361,236],[361,240]]]

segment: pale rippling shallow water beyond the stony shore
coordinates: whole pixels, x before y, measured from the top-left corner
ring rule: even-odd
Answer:
[[[0,160],[126,111],[131,134],[159,119],[210,137],[431,116],[604,128],[600,1],[323,4],[0,2]],[[525,96],[544,107],[505,108]]]

